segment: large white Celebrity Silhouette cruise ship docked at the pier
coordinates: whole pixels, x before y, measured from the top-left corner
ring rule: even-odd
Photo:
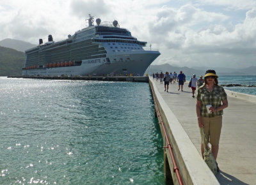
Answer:
[[[148,66],[160,55],[159,51],[144,50],[139,41],[116,20],[101,22],[89,15],[88,27],[62,41],[48,41],[25,51],[22,76],[143,76]],[[151,47],[150,47],[151,48]]]

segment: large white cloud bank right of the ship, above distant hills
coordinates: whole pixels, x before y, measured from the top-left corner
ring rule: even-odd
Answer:
[[[253,39],[256,34],[255,10],[247,11],[245,20],[235,26],[225,24],[232,17],[206,12],[191,4],[178,10],[165,6],[157,16],[161,17],[156,18],[159,22],[155,21],[151,31],[156,34],[157,29],[162,28],[154,41],[161,40],[165,46],[161,47],[159,63],[169,61],[170,64],[183,66],[212,67],[256,64]]]

